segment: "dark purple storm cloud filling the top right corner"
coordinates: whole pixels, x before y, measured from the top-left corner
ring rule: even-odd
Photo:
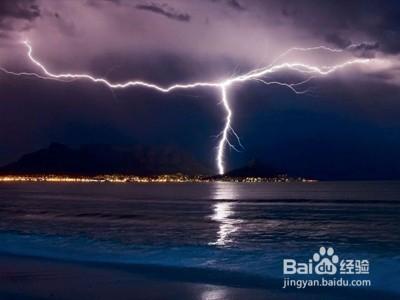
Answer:
[[[271,1],[265,4],[280,7],[283,17],[299,28],[303,27],[323,36],[339,47],[355,43],[355,39],[369,38],[369,44],[378,45],[387,54],[400,53],[400,3],[398,1]],[[368,48],[368,49],[366,49]],[[377,47],[366,46],[370,56]],[[361,49],[358,49],[361,50]],[[362,55],[363,56],[363,55]]]

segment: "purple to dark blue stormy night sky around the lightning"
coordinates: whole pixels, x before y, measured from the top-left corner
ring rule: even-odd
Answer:
[[[1,0],[0,66],[40,74],[22,40],[55,73],[160,85],[243,74],[291,47],[345,49],[287,59],[373,62],[315,78],[302,95],[255,81],[230,89],[245,149],[227,151],[227,168],[257,159],[307,177],[400,178],[398,1]],[[268,79],[301,79],[293,73]],[[215,89],[111,90],[4,72],[0,81],[0,165],[55,141],[174,145],[214,166],[224,125]]]

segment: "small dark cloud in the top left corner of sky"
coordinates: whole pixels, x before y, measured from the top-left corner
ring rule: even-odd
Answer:
[[[39,6],[35,0],[2,0],[0,1],[0,29],[14,29],[14,21],[33,21],[40,16]],[[28,26],[25,24],[25,27]]]

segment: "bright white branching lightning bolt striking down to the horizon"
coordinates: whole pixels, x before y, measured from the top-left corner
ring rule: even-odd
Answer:
[[[303,84],[309,82],[316,76],[327,76],[339,69],[343,69],[345,67],[349,67],[354,64],[366,64],[371,61],[371,59],[351,59],[347,60],[341,64],[336,64],[332,66],[315,66],[315,65],[309,65],[309,64],[304,64],[304,63],[288,63],[288,62],[283,62],[280,64],[277,64],[279,60],[287,56],[289,53],[294,52],[294,51],[303,51],[303,52],[308,52],[308,51],[316,51],[316,50],[323,50],[323,51],[328,51],[331,53],[340,53],[343,52],[345,49],[333,49],[333,48],[328,48],[325,46],[317,46],[317,47],[310,47],[310,48],[299,48],[299,47],[294,47],[286,50],[283,52],[281,55],[279,55],[273,62],[268,65],[267,67],[264,68],[258,68],[255,70],[252,70],[244,75],[239,75],[235,76],[232,78],[228,78],[222,81],[217,81],[217,82],[194,82],[194,83],[187,83],[187,84],[173,84],[170,86],[160,86],[154,83],[148,83],[145,81],[141,80],[135,80],[135,81],[125,81],[125,82],[110,82],[109,80],[105,78],[98,78],[95,76],[92,76],[90,74],[72,74],[72,73],[60,73],[56,74],[51,71],[49,71],[44,64],[42,64],[38,59],[36,59],[33,56],[33,49],[31,44],[28,41],[24,41],[23,44],[27,47],[28,49],[28,58],[29,60],[36,65],[41,71],[42,74],[37,74],[33,72],[11,72],[5,68],[0,67],[0,71],[10,74],[10,75],[15,75],[15,76],[35,76],[40,79],[50,79],[50,80],[61,80],[61,81],[69,81],[69,80],[76,80],[76,79],[82,79],[82,80],[89,80],[94,83],[100,83],[104,84],[107,87],[111,89],[124,89],[128,87],[135,87],[135,86],[141,86],[141,87],[146,87],[150,88],[162,93],[169,93],[174,90],[178,89],[193,89],[193,88],[216,88],[219,89],[221,93],[221,103],[223,105],[223,108],[225,110],[225,123],[222,131],[218,135],[219,137],[219,142],[217,145],[217,155],[216,155],[216,164],[218,168],[218,173],[219,174],[224,174],[225,173],[225,150],[227,147],[230,147],[232,149],[237,150],[237,148],[230,142],[230,134],[233,135],[239,146],[243,147],[240,141],[239,136],[235,132],[235,130],[232,128],[232,117],[233,117],[233,112],[230,107],[229,103],[229,98],[228,98],[228,91],[229,88],[238,83],[243,83],[247,81],[257,81],[261,82],[266,85],[279,85],[283,86],[286,88],[289,88],[291,91],[293,91],[296,94],[303,94],[306,93],[307,90],[299,90],[298,88],[301,87]],[[351,46],[349,46],[351,47]],[[346,48],[347,49],[347,48]],[[267,81],[265,80],[265,77],[268,75],[271,75],[273,73],[277,73],[283,70],[291,70],[297,73],[300,73],[302,75],[307,76],[307,78],[303,81],[299,82],[282,82],[282,81]]]

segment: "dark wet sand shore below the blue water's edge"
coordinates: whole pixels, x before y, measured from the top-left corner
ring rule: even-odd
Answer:
[[[396,299],[371,289],[282,289],[280,279],[200,268],[0,253],[1,299]],[[139,296],[138,296],[139,295]]]

